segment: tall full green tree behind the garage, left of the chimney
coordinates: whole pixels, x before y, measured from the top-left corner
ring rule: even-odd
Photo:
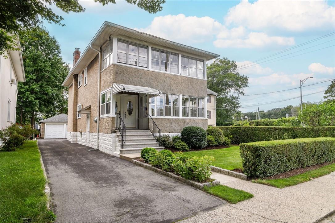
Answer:
[[[67,88],[62,82],[69,66],[58,42],[44,28],[20,34],[25,82],[18,82],[17,120],[35,123],[36,114],[51,117],[67,113]],[[22,120],[22,121],[21,121]]]

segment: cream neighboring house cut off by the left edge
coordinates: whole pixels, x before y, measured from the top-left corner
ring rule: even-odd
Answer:
[[[21,49],[18,40],[16,44]],[[0,128],[15,123],[17,82],[25,81],[21,50],[9,51],[5,56],[0,56]]]

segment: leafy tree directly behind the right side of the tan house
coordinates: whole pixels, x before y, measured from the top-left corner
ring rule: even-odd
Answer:
[[[207,87],[219,94],[216,97],[217,125],[231,120],[231,116],[238,112],[239,95],[244,94],[243,88],[248,83],[248,76],[237,72],[235,61],[222,58],[207,65]]]

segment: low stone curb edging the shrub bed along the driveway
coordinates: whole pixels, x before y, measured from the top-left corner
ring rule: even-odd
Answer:
[[[176,174],[174,174],[172,172],[166,172],[164,170],[161,170],[159,168],[151,166],[151,165],[149,165],[147,163],[138,161],[136,159],[132,159],[131,162],[134,163],[134,164],[136,164],[137,166],[141,166],[141,167],[144,167],[146,169],[153,170],[153,171],[155,171],[155,172],[157,172],[159,174],[171,177],[172,179],[175,179],[175,180],[179,180],[179,181],[181,181],[183,183],[191,185],[192,187],[195,187],[195,188],[200,189],[200,190],[203,189],[205,186],[206,187],[212,187],[212,186],[215,186],[215,185],[220,185],[220,181],[218,181],[218,180],[214,180],[213,182],[207,182],[207,183],[198,183],[198,182],[193,181],[193,180],[185,179],[184,177],[178,176],[178,175],[176,175]]]

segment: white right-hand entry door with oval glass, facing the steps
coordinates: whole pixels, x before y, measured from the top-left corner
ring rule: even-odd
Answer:
[[[137,128],[137,96],[124,95],[123,105],[126,128]]]

